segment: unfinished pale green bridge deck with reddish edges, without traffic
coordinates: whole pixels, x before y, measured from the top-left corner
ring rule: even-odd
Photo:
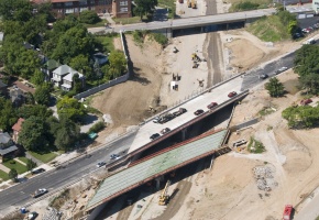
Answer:
[[[177,144],[169,151],[155,155],[150,160],[142,161],[134,166],[106,178],[96,195],[88,202],[87,210],[157,176],[212,154],[221,146],[227,132],[228,130],[222,130],[188,140],[182,145]]]

